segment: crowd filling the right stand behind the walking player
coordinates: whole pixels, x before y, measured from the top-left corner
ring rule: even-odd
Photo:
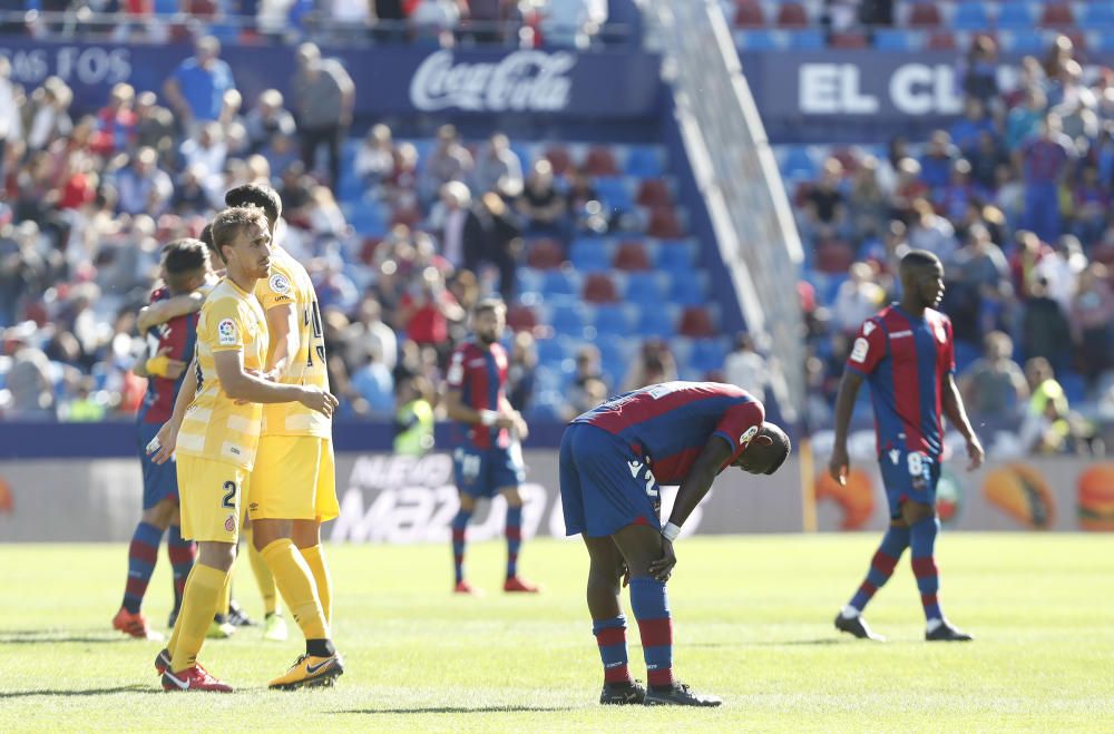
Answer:
[[[827,297],[802,285],[817,421],[850,337],[916,247],[945,262],[973,413],[1029,417],[1024,440],[1039,450],[1092,446],[1072,401],[1114,409],[1114,71],[1087,76],[1074,56],[1059,36],[1003,86],[995,41],[977,37],[956,70],[960,119],[885,157],[837,150],[795,193],[813,267],[839,274]]]

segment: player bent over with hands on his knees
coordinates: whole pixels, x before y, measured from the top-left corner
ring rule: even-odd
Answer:
[[[565,532],[588,548],[588,611],[604,663],[602,704],[719,706],[673,676],[673,619],[665,583],[673,542],[727,467],[772,474],[789,437],[764,420],[745,390],[716,382],[665,382],[612,398],[573,420],[560,443]],[[676,485],[662,527],[658,483]],[[648,687],[627,668],[619,580],[628,576]]]

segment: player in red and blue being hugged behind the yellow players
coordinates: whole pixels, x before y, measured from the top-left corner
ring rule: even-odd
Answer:
[[[192,293],[206,285],[213,271],[208,248],[198,239],[176,239],[163,248],[163,285],[150,296],[158,303],[169,296]],[[135,372],[147,378],[147,392],[139,407],[139,462],[143,468],[143,518],[128,546],[128,580],[124,601],[113,619],[113,627],[133,637],[160,639],[150,629],[140,607],[158,559],[158,546],[169,529],[166,550],[174,569],[174,609],[177,617],[182,589],[194,566],[194,544],[183,539],[178,520],[178,480],[170,463],[157,464],[146,451],[147,443],[169,419],[183,374],[194,354],[197,316],[177,316],[147,330],[148,358],[136,364]],[[174,623],[170,623],[174,626]]]

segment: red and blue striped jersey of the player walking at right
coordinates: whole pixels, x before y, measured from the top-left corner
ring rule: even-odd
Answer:
[[[917,319],[887,306],[862,322],[847,369],[870,384],[879,456],[895,448],[940,456],[942,383],[956,371],[947,316],[926,309]]]

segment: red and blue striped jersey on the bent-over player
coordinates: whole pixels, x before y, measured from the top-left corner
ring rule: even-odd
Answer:
[[[750,444],[765,409],[742,388],[720,382],[663,382],[612,398],[573,419],[619,435],[663,485],[680,483],[713,435],[732,447],[723,471]]]

